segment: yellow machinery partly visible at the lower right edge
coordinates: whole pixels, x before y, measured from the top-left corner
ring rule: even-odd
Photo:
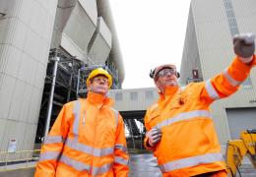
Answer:
[[[225,155],[227,171],[231,176],[239,172],[238,167],[245,155],[256,168],[256,129],[241,132],[239,140],[228,141]]]

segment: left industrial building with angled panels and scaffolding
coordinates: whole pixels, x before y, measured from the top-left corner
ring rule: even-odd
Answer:
[[[96,65],[121,89],[124,66],[108,0],[1,0],[0,151],[33,149],[48,115],[50,126]]]

